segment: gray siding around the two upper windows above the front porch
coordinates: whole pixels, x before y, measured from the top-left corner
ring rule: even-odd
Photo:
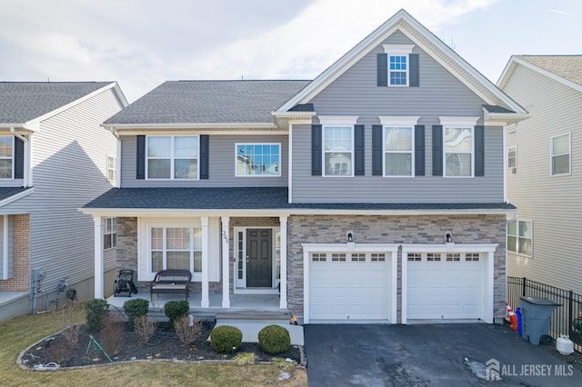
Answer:
[[[281,144],[281,176],[235,176],[235,144]],[[209,178],[201,180],[135,179],[136,137],[121,137],[121,186],[136,187],[282,187],[287,185],[286,134],[210,134],[208,165]]]

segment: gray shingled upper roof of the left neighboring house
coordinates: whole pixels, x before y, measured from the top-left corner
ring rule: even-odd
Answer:
[[[24,124],[112,82],[0,82],[0,123]]]

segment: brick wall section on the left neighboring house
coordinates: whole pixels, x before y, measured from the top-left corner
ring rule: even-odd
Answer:
[[[30,221],[29,215],[13,215],[13,278],[0,280],[0,292],[30,291]]]

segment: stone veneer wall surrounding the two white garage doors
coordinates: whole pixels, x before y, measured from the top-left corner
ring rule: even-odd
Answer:
[[[494,319],[505,316],[505,215],[422,216],[290,216],[287,240],[287,303],[303,318],[303,248],[301,243],[346,243],[353,231],[357,243],[445,243],[451,232],[455,243],[498,243],[494,269]],[[398,250],[397,323],[402,312],[401,249]]]

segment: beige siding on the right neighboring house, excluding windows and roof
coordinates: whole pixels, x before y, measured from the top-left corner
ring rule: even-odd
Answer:
[[[582,293],[582,93],[517,65],[505,91],[530,118],[508,129],[517,170],[507,196],[533,223],[533,256],[508,253],[507,273]],[[571,175],[550,175],[550,138],[571,133]]]

